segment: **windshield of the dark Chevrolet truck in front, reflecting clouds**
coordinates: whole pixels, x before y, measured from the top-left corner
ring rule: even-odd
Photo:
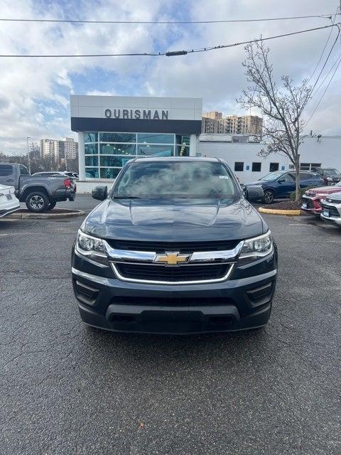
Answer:
[[[220,162],[138,161],[114,186],[113,198],[238,199],[231,173]]]

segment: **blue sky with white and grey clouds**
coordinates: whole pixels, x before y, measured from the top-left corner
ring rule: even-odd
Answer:
[[[338,0],[0,0],[0,17],[222,20],[331,14],[337,4]],[[3,22],[0,54],[158,52],[246,41],[328,23],[323,18],[180,26]],[[297,82],[309,77],[329,33],[327,29],[269,41],[276,77],[290,75]],[[332,31],[328,51],[336,33]],[[340,41],[326,72],[338,56]],[[205,110],[243,113],[235,102],[245,85],[242,60],[243,46],[173,58],[1,58],[0,151],[21,153],[27,136],[38,141],[74,135],[71,93],[202,97]],[[314,132],[341,134],[340,81],[341,66],[310,121],[308,127]],[[307,106],[307,119],[324,87]]]

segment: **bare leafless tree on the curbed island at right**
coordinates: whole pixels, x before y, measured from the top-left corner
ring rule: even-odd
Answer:
[[[269,63],[270,49],[264,41],[250,43],[245,47],[247,58],[242,63],[246,68],[247,88],[237,100],[245,109],[257,107],[264,115],[264,141],[266,148],[261,156],[271,153],[284,154],[295,168],[296,200],[299,200],[299,146],[303,141],[302,112],[307,104],[311,87],[307,80],[294,85],[291,77],[281,77],[281,87],[274,80],[273,66]]]

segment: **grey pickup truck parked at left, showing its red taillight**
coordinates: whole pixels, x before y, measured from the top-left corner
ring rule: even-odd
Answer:
[[[16,197],[31,212],[52,210],[63,200],[75,200],[76,184],[67,176],[30,176],[22,164],[0,163],[0,183],[14,186]]]

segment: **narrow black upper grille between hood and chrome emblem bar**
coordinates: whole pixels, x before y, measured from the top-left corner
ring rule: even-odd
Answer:
[[[153,251],[164,253],[166,251],[178,251],[181,254],[195,251],[222,251],[233,250],[240,240],[217,240],[207,242],[144,242],[135,240],[108,240],[112,248],[129,251]]]

